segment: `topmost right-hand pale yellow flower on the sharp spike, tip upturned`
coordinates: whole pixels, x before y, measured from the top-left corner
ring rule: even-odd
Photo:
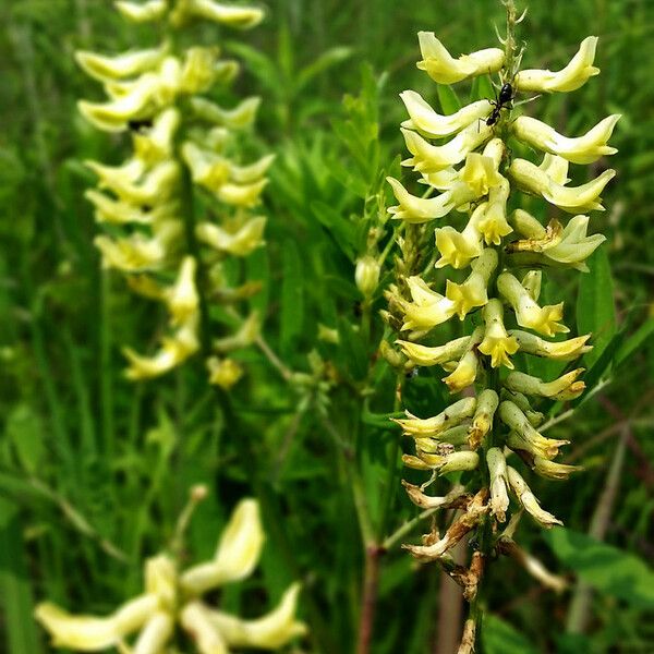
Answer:
[[[536,93],[577,90],[600,73],[600,69],[593,65],[596,47],[597,37],[589,36],[581,41],[579,51],[566,68],[556,73],[547,70],[520,71],[513,78],[513,87]]]

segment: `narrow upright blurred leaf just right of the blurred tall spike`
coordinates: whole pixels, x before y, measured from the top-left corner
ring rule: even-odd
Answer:
[[[282,356],[289,356],[298,349],[304,318],[302,259],[294,241],[283,244],[282,274],[279,347]]]

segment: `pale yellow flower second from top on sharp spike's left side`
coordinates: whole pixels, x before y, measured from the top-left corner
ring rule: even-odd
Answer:
[[[460,132],[491,113],[492,106],[488,100],[479,100],[467,105],[459,111],[449,116],[441,116],[434,111],[428,102],[414,90],[404,90],[400,94],[410,119],[402,123],[407,130],[415,130],[427,138],[443,138]]]

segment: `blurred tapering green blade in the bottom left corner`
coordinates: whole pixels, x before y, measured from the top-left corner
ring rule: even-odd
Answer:
[[[19,511],[0,497],[0,603],[4,605],[3,630],[7,652],[38,654],[41,646],[34,602],[23,549],[23,533]]]

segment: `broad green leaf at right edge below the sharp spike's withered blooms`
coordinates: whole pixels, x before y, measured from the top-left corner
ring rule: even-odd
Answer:
[[[643,560],[562,526],[543,535],[559,560],[597,591],[639,608],[654,607],[654,570]]]

